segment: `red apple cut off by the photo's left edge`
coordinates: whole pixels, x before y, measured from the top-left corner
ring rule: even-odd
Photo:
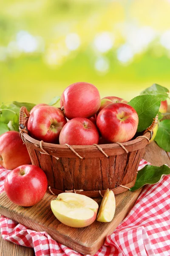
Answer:
[[[22,164],[31,163],[26,145],[18,131],[7,131],[0,136],[0,165],[14,169]]]

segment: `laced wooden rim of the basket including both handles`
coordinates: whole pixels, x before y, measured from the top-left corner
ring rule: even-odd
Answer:
[[[153,128],[156,126],[158,122],[158,116],[156,116],[156,118],[153,119],[153,123],[150,125],[150,127],[148,127],[145,131],[143,131],[142,136],[138,136],[135,139],[129,140],[127,142],[122,142],[122,143],[115,142],[110,144],[99,144],[99,145],[96,145],[96,144],[94,145],[68,145],[68,144],[62,145],[62,144],[46,143],[43,140],[39,141],[29,136],[28,129],[27,129],[27,122],[28,122],[29,116],[30,114],[27,111],[26,107],[21,107],[20,116],[19,116],[19,124],[20,124],[19,129],[20,129],[20,136],[23,139],[24,143],[25,143],[25,140],[27,140],[28,143],[34,144],[34,147],[40,148],[40,151],[42,150],[42,152],[47,153],[42,148],[42,143],[43,143],[43,147],[45,147],[46,150],[49,150],[49,151],[54,150],[55,152],[65,151],[67,153],[68,151],[69,152],[72,151],[71,154],[73,154],[74,157],[76,154],[80,158],[83,158],[85,156],[81,157],[79,153],[85,154],[88,156],[90,154],[91,156],[91,154],[93,153],[96,155],[96,152],[100,152],[100,155],[104,154],[106,157],[108,157],[111,155],[115,155],[116,150],[119,151],[118,154],[123,154],[125,153],[125,151],[126,153],[128,153],[129,151],[142,149],[147,145],[147,143],[151,139]],[[98,155],[99,154],[97,153],[97,156]]]

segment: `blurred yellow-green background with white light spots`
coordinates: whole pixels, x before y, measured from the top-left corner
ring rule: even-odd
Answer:
[[[48,103],[77,81],[126,100],[170,90],[170,0],[1,1],[0,102]]]

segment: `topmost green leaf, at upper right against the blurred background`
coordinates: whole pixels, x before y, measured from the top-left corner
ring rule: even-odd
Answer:
[[[155,95],[162,99],[162,101],[168,98],[169,90],[159,84],[153,84],[152,86],[148,87],[144,91],[142,91],[141,95],[143,94],[151,94]]]

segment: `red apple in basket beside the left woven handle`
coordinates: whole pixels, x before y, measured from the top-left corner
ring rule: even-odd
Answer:
[[[57,143],[59,133],[66,122],[64,113],[58,108],[41,106],[31,113],[27,128],[34,139]]]

